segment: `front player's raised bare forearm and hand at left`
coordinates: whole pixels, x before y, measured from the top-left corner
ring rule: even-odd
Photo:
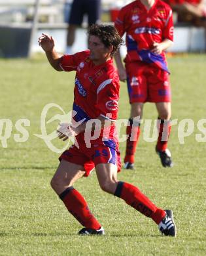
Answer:
[[[41,37],[39,37],[39,45],[46,53],[46,57],[48,62],[50,62],[51,66],[58,71],[62,71],[60,68],[61,55],[57,53],[54,49],[54,39],[52,36],[43,33]]]

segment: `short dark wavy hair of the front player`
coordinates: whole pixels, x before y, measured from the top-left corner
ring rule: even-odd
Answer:
[[[113,47],[111,56],[119,49],[120,45],[124,45],[123,39],[118,31],[112,25],[94,24],[88,29],[88,35],[99,37],[105,47]]]

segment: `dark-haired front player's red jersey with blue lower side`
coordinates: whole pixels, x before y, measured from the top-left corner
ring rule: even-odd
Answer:
[[[63,55],[61,59],[62,70],[77,71],[73,103],[73,110],[77,114],[73,119],[88,121],[103,116],[116,121],[120,83],[113,61],[110,59],[95,66],[89,56],[90,51],[83,51],[73,55]],[[114,125],[108,137],[115,139]],[[82,133],[76,139],[77,141],[82,139]]]

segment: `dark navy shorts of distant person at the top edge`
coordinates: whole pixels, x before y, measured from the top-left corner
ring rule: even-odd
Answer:
[[[100,19],[101,0],[74,0],[71,6],[69,16],[69,24],[80,26],[83,21],[84,14],[88,15],[88,24],[97,23]]]

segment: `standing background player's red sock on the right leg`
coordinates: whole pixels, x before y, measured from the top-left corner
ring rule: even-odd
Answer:
[[[171,120],[162,120],[158,117],[158,130],[159,135],[156,149],[158,151],[165,151],[167,149],[167,142],[171,132]]]

